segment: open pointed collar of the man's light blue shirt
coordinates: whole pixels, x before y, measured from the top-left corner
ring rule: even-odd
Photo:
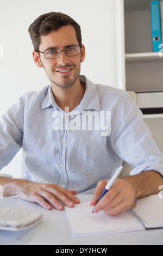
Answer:
[[[89,79],[85,76],[79,76],[80,82],[84,83],[86,86],[85,94],[83,96],[80,104],[75,108],[76,111],[83,112],[85,109],[95,109],[97,111],[100,110],[99,105],[99,97],[97,93],[96,85],[93,84]],[[55,102],[51,86],[48,87],[47,94],[42,102],[42,109],[50,106],[55,108],[59,108],[57,103]]]

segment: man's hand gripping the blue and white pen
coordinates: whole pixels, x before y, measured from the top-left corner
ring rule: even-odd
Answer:
[[[107,180],[98,182],[90,205],[95,205],[103,192]],[[134,208],[136,205],[136,191],[133,185],[126,179],[117,179],[108,192],[93,208],[93,212],[104,211],[104,214],[115,216]]]

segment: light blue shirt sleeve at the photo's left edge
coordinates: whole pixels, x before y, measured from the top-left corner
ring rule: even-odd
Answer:
[[[7,166],[23,141],[23,96],[0,118],[0,170]]]

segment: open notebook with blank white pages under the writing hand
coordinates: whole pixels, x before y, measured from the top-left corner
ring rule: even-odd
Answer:
[[[92,214],[90,202],[66,206],[74,237],[105,235],[163,227],[163,199],[158,194],[137,199],[135,208],[116,216],[105,215],[103,211]]]

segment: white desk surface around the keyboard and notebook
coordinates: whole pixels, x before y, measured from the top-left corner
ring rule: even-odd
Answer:
[[[81,202],[92,195],[80,194]],[[46,210],[18,197],[0,198],[0,208],[29,209],[43,213],[35,227],[22,231],[0,230],[0,245],[163,245],[163,228],[74,239],[66,212]]]

